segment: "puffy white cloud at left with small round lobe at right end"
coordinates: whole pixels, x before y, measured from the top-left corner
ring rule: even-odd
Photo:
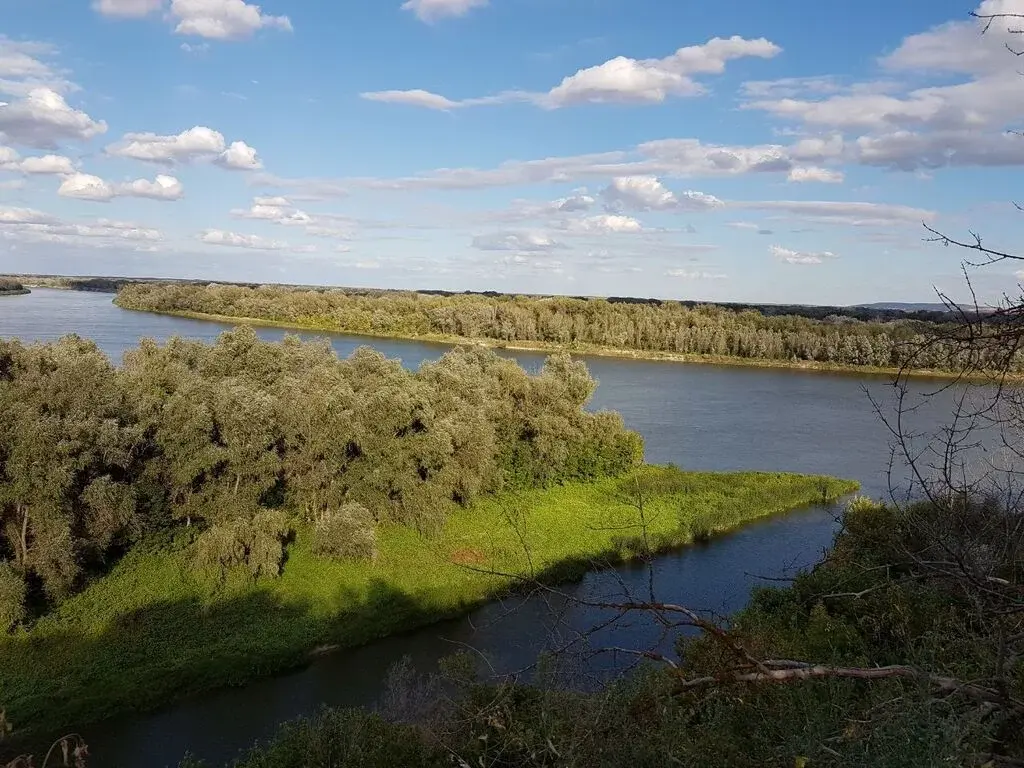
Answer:
[[[230,170],[249,171],[263,167],[256,151],[245,141],[232,141],[228,146],[222,133],[201,125],[169,136],[126,133],[121,141],[111,144],[105,152],[118,158],[167,166],[212,161]]]

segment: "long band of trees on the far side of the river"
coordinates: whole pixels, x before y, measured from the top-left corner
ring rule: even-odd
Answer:
[[[128,309],[252,317],[413,338],[445,336],[844,367],[959,371],[977,362],[967,359],[970,352],[955,338],[944,338],[955,337],[953,323],[769,316],[753,309],[671,301],[133,284],[122,288],[117,303]],[[1020,369],[1019,359],[1014,365]]]

